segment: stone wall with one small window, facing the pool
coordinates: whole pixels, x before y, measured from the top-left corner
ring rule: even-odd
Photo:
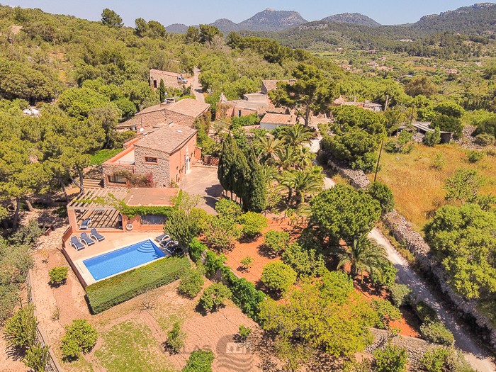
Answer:
[[[157,157],[157,164],[145,163],[145,157]],[[171,172],[169,154],[135,145],[135,171],[137,174],[153,174],[154,187],[170,187]]]

